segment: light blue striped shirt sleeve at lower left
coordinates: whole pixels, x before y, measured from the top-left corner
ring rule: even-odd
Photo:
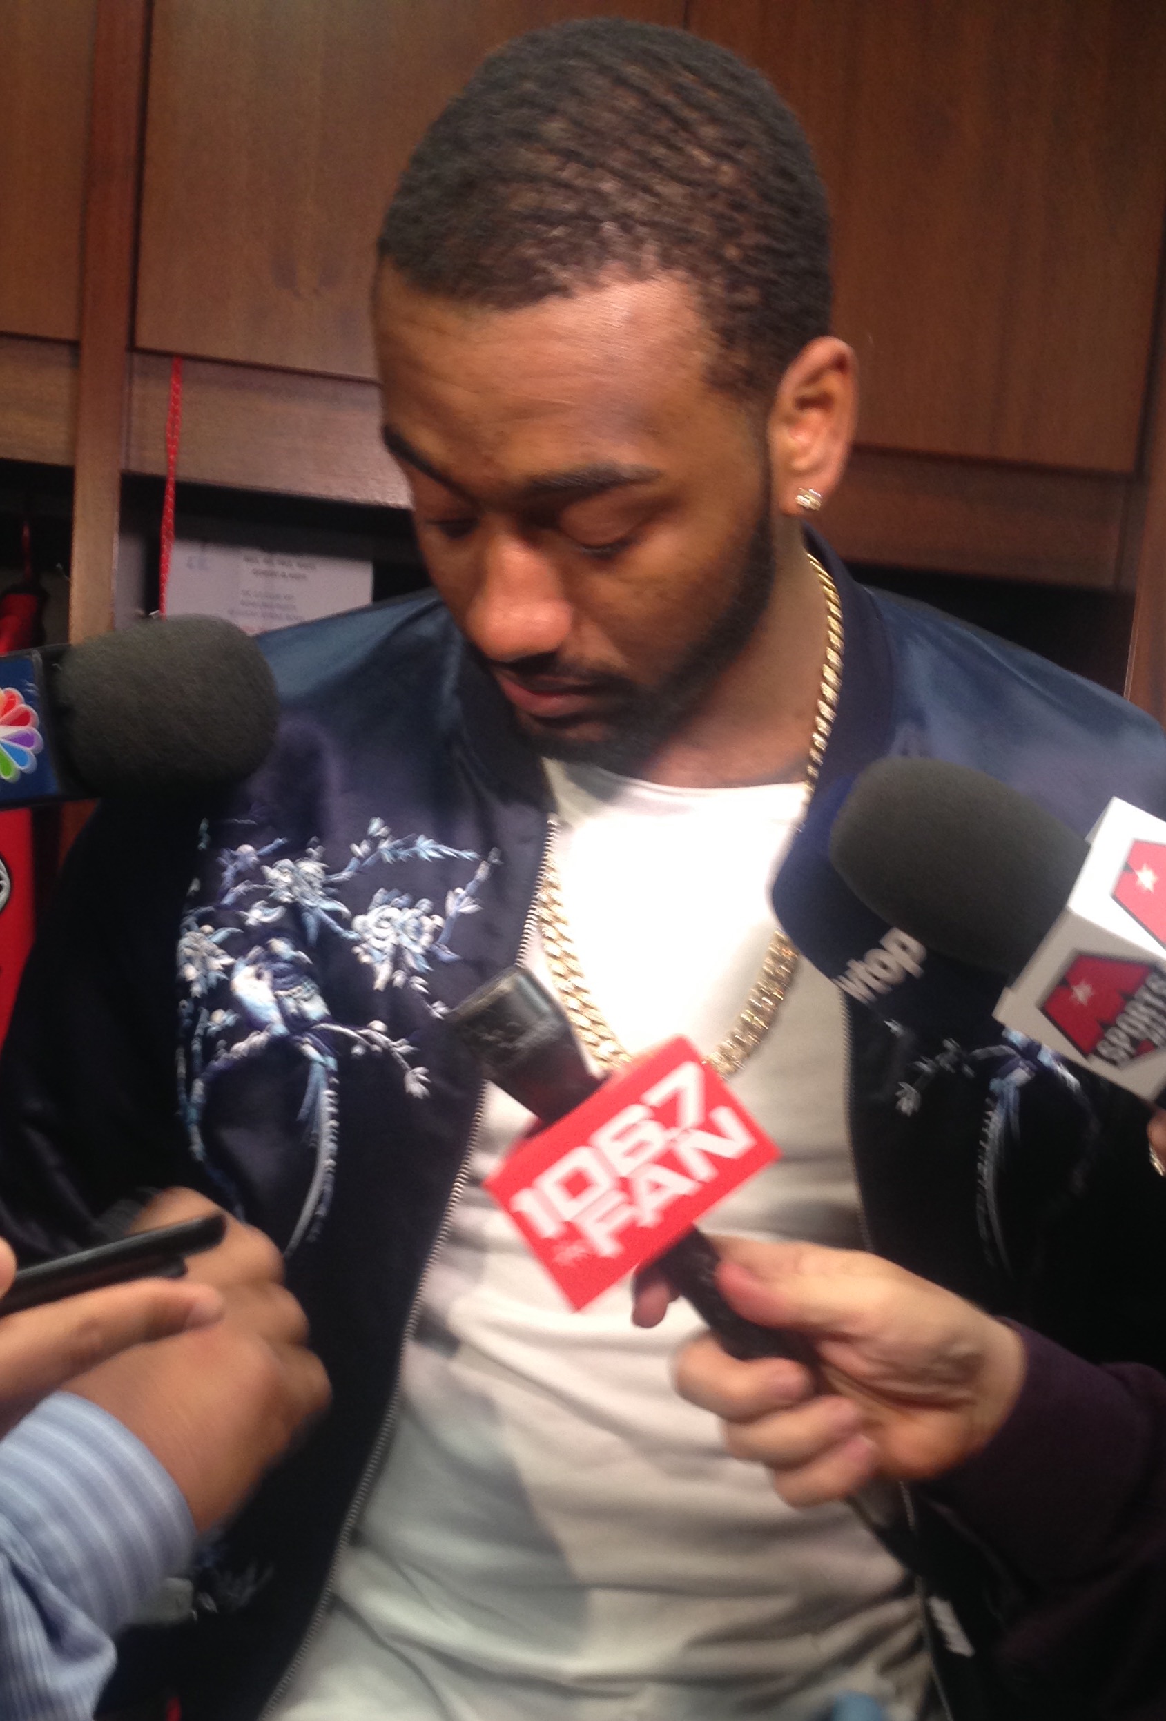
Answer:
[[[59,1392],[0,1442],[0,1714],[88,1721],[112,1633],[195,1532],[186,1501],[119,1422]]]

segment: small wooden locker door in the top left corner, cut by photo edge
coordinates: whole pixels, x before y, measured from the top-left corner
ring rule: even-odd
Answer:
[[[96,0],[0,0],[0,329],[76,341]]]

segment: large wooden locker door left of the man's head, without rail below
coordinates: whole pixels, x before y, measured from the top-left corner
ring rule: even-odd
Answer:
[[[479,60],[534,24],[682,0],[157,0],[136,344],[372,377],[374,241]]]

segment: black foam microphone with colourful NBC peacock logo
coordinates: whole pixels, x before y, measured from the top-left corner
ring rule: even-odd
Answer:
[[[0,657],[0,811],[241,781],[279,721],[262,651],[217,616]]]

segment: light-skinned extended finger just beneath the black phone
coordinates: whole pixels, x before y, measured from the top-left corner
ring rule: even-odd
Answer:
[[[119,1351],[212,1325],[220,1317],[222,1298],[212,1286],[171,1279],[86,1291],[5,1317],[0,1320],[0,1432],[38,1399]]]

